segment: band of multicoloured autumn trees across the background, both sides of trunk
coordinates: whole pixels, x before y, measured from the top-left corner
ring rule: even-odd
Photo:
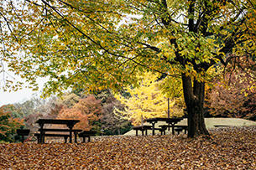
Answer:
[[[248,68],[251,65],[251,69]],[[255,62],[246,57],[234,59],[227,67],[212,68],[215,78],[206,85],[206,117],[239,117],[256,121]],[[237,68],[234,70],[234,68]],[[97,135],[121,135],[141,118],[167,116],[167,95],[160,91],[165,76],[147,73],[140,75],[137,87],[112,94],[111,89],[86,95],[86,90],[66,92],[60,97],[43,99],[34,95],[21,103],[0,107],[0,141],[15,142],[17,128],[37,131],[34,122],[39,118],[79,119],[76,128],[97,131]],[[177,82],[175,82],[177,83]],[[174,83],[173,83],[174,84]],[[172,85],[172,84],[170,84]],[[170,116],[186,117],[179,87],[170,86]]]

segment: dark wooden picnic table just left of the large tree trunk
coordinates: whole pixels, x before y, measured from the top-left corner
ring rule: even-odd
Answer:
[[[149,122],[150,124],[152,124],[152,135],[154,135],[154,125],[155,123],[157,123],[158,121],[165,121],[166,123],[170,124],[171,128],[172,128],[172,134],[175,134],[175,124],[178,123],[179,121],[181,121],[183,118],[165,118],[165,117],[154,117],[154,118],[149,118],[149,119],[145,119],[144,121]]]

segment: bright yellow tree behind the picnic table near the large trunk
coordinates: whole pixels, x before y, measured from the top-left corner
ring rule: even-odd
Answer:
[[[125,90],[130,97],[123,97],[123,95],[115,95],[115,97],[126,106],[125,111],[116,109],[116,113],[123,116],[123,118],[132,121],[133,125],[138,125],[142,121],[142,117],[166,117],[168,102],[166,95],[163,95],[159,90],[158,75],[151,72],[139,75],[140,83],[138,87],[128,87]],[[180,111],[173,112],[175,100],[170,102],[171,116],[182,116]]]

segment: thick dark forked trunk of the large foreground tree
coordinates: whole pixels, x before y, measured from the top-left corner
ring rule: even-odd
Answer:
[[[188,137],[209,136],[204,121],[205,83],[182,75],[183,93],[188,113]]]

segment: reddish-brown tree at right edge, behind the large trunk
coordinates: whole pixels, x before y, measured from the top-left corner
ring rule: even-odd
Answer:
[[[210,114],[247,119],[256,116],[253,110],[256,107],[253,102],[256,100],[255,65],[253,60],[246,57],[232,59],[225,68],[225,75],[214,80],[215,86],[206,95]]]

